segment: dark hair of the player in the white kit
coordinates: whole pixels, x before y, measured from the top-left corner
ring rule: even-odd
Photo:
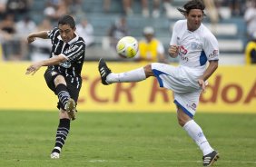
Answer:
[[[188,15],[192,9],[200,9],[202,10],[202,15],[205,16],[203,11],[204,8],[205,8],[205,5],[203,4],[202,0],[191,0],[187,2],[185,5],[183,5],[183,8],[177,8],[177,9],[178,11],[180,11],[182,15]]]

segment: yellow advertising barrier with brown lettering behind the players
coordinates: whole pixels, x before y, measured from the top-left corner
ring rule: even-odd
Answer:
[[[0,64],[0,110],[54,110],[57,97],[44,82],[45,67],[25,75],[29,63]],[[113,72],[123,72],[143,64],[109,63]],[[202,94],[199,112],[256,113],[256,66],[221,66]],[[174,112],[172,92],[150,78],[141,83],[114,83],[104,86],[97,63],[84,63],[84,83],[79,111]]]

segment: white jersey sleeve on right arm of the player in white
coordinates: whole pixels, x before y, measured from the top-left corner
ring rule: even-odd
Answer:
[[[219,60],[219,44],[213,34],[206,35],[203,43],[203,51],[207,56],[207,60]]]

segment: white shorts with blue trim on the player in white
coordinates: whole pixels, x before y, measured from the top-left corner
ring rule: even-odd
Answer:
[[[152,70],[160,87],[174,93],[174,103],[191,118],[195,114],[202,88],[197,83],[198,76],[182,66],[153,63]]]

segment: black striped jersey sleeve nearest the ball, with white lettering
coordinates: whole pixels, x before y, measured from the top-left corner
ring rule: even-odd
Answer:
[[[79,60],[84,57],[85,44],[84,42],[78,42],[71,44],[62,54],[68,61]]]

